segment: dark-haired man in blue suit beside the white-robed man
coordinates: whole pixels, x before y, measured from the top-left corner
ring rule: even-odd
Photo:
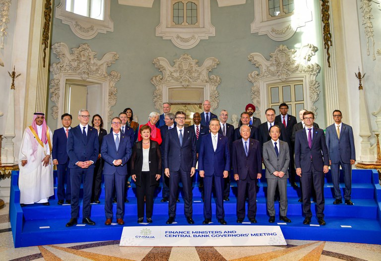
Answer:
[[[59,205],[64,204],[65,199],[67,204],[71,202],[69,157],[66,152],[66,143],[71,129],[72,117],[70,114],[65,113],[61,116],[61,120],[64,127],[54,131],[52,147],[53,164],[57,166],[57,197]]]

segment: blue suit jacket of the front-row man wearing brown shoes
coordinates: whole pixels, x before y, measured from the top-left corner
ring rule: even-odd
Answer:
[[[126,134],[119,132],[119,147],[115,145],[114,132],[111,131],[109,134],[103,137],[102,148],[101,148],[102,158],[105,161],[103,167],[103,175],[127,175],[127,161],[131,157],[132,148],[129,137]],[[113,161],[116,159],[121,159],[122,164],[115,166]]]

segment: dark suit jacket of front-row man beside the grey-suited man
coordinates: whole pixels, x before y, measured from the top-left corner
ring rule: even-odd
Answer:
[[[233,142],[233,174],[238,174],[240,180],[246,180],[248,175],[255,180],[258,173],[262,173],[262,147],[258,140],[250,138],[248,141],[248,156],[246,156],[242,138]]]

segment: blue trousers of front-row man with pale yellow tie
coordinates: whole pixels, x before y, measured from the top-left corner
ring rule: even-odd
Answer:
[[[205,176],[204,177],[204,218],[212,218],[212,189],[214,182],[214,192],[216,196],[216,216],[218,219],[225,217],[224,211],[224,177]]]

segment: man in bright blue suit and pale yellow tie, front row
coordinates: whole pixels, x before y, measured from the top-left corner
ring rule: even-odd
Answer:
[[[219,134],[220,121],[212,119],[209,122],[210,133],[201,138],[198,171],[204,178],[204,221],[212,220],[212,185],[216,196],[216,216],[221,225],[226,225],[224,211],[224,178],[230,171],[230,153],[228,138]]]

